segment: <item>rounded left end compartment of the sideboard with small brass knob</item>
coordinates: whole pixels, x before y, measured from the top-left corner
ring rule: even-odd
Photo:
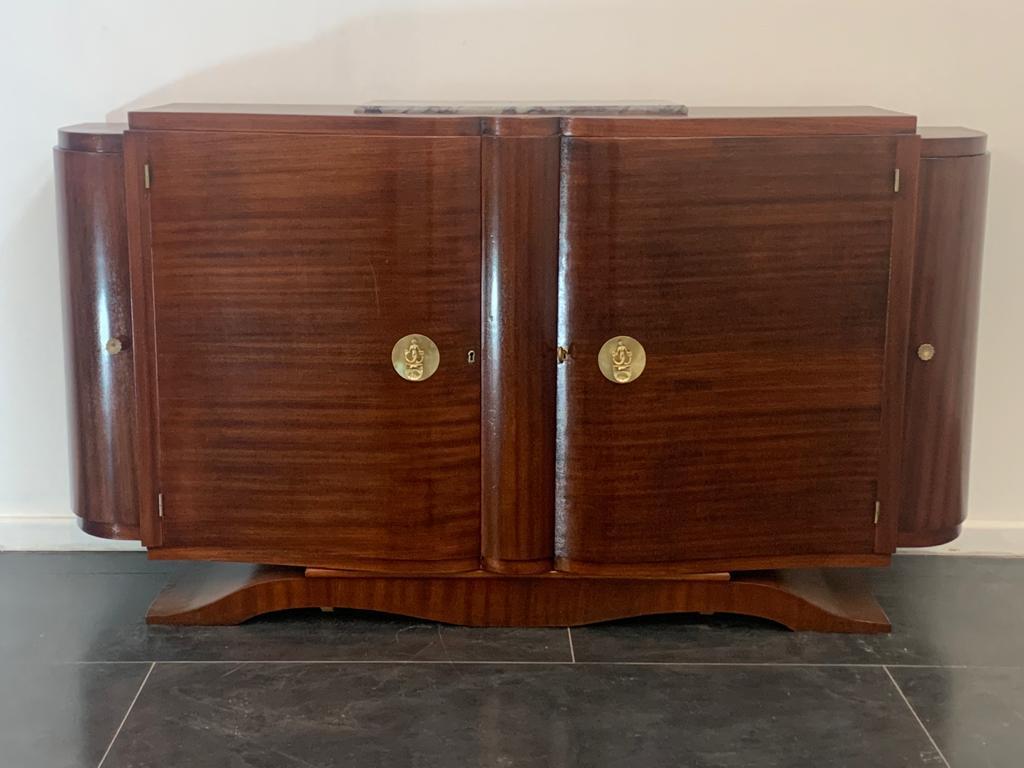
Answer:
[[[74,126],[53,152],[72,507],[87,532],[138,539],[138,442],[124,162],[116,129]],[[60,148],[74,147],[74,148]],[[121,350],[106,351],[117,339]]]

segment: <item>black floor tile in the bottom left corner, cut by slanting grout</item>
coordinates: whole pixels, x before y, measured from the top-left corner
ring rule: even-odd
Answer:
[[[0,765],[95,768],[147,664],[0,664]]]

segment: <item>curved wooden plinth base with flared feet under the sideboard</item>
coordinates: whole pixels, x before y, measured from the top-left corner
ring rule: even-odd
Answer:
[[[859,573],[774,570],[734,578],[607,579],[305,574],[302,568],[206,565],[169,585],[146,621],[231,625],[287,608],[345,607],[470,627],[571,627],[650,613],[740,613],[792,630],[881,633],[891,625]]]

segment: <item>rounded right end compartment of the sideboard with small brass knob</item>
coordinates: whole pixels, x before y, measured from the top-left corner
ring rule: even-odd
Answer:
[[[984,134],[946,128],[923,135],[927,156],[921,161],[907,347],[906,460],[899,521],[903,547],[952,541],[967,515],[988,188]],[[926,343],[935,347],[928,361],[916,354]]]

